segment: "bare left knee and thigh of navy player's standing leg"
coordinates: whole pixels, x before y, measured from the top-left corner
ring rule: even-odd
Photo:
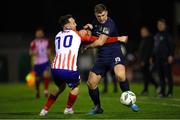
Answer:
[[[96,75],[94,72],[90,71],[87,84],[90,88],[96,88],[100,80],[101,75]]]

